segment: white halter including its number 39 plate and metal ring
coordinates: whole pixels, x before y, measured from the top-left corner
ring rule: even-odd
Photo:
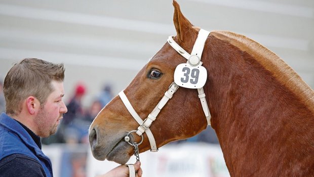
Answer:
[[[182,49],[177,44],[177,42],[173,40],[172,36],[169,36],[167,40],[168,43],[171,45],[173,49],[175,49],[180,55],[182,55],[187,60],[187,62],[179,64],[177,66],[174,73],[175,81],[171,83],[168,91],[164,94],[164,97],[156,105],[156,107],[152,110],[152,112],[148,114],[145,120],[142,120],[141,117],[136,113],[130,101],[128,100],[127,96],[125,95],[125,93],[123,91],[119,93],[119,96],[122,102],[124,103],[128,111],[130,112],[130,114],[133,116],[133,118],[139,124],[137,130],[130,131],[128,135],[125,137],[125,140],[130,145],[132,145],[132,143],[129,142],[130,141],[129,135],[131,134],[131,132],[136,132],[136,134],[141,137],[143,136],[142,134],[146,132],[146,135],[150,143],[150,148],[151,148],[150,151],[152,152],[158,151],[156,147],[155,139],[149,127],[151,123],[156,119],[156,117],[158,116],[162,108],[172,98],[173,94],[178,90],[179,86],[198,90],[198,93],[199,93],[198,97],[201,101],[202,108],[207,119],[207,123],[208,125],[210,125],[211,115],[209,112],[209,108],[208,108],[207,101],[205,98],[205,93],[203,90],[203,86],[205,85],[206,80],[207,80],[207,71],[205,67],[202,66],[203,62],[201,61],[205,41],[209,33],[210,33],[209,31],[206,31],[204,29],[201,29],[199,31],[198,38],[195,40],[191,54],[187,53],[184,49]],[[143,140],[143,137],[142,137],[142,140]]]

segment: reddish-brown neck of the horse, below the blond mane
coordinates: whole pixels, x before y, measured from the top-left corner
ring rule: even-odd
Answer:
[[[215,37],[210,40],[210,50],[203,54],[209,72],[205,91],[230,174],[314,172],[310,108],[248,53]]]

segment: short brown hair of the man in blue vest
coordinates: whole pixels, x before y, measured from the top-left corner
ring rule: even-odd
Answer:
[[[41,59],[26,58],[15,64],[8,72],[3,86],[7,114],[21,112],[21,103],[29,96],[41,104],[53,91],[51,81],[64,80],[63,64],[54,64]]]

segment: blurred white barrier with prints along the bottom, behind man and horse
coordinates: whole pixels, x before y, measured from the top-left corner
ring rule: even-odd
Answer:
[[[52,160],[55,177],[85,174],[94,177],[119,166],[111,161],[98,161],[89,146],[44,146]],[[143,177],[224,177],[229,176],[219,145],[203,143],[170,144],[156,153],[140,154]],[[135,163],[132,156],[128,163]]]

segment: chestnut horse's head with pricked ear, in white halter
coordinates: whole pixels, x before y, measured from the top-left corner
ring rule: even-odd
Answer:
[[[190,53],[200,29],[194,27],[182,15],[177,2],[174,1],[173,5],[175,8],[173,20],[177,31],[177,36],[173,39]],[[142,119],[149,115],[169,89],[174,79],[175,68],[181,63],[186,63],[186,59],[167,42],[124,90],[134,110]],[[192,137],[206,128],[206,117],[197,93],[196,90],[179,88],[158,114],[158,118],[149,127],[157,147]],[[107,158],[117,163],[126,163],[134,152],[133,147],[124,138],[138,126],[120,96],[113,98],[90,126],[90,144],[94,157],[98,160]],[[148,138],[146,134],[143,135],[144,141],[139,147],[140,152],[150,149]],[[141,140],[136,134],[132,137],[133,141]]]

